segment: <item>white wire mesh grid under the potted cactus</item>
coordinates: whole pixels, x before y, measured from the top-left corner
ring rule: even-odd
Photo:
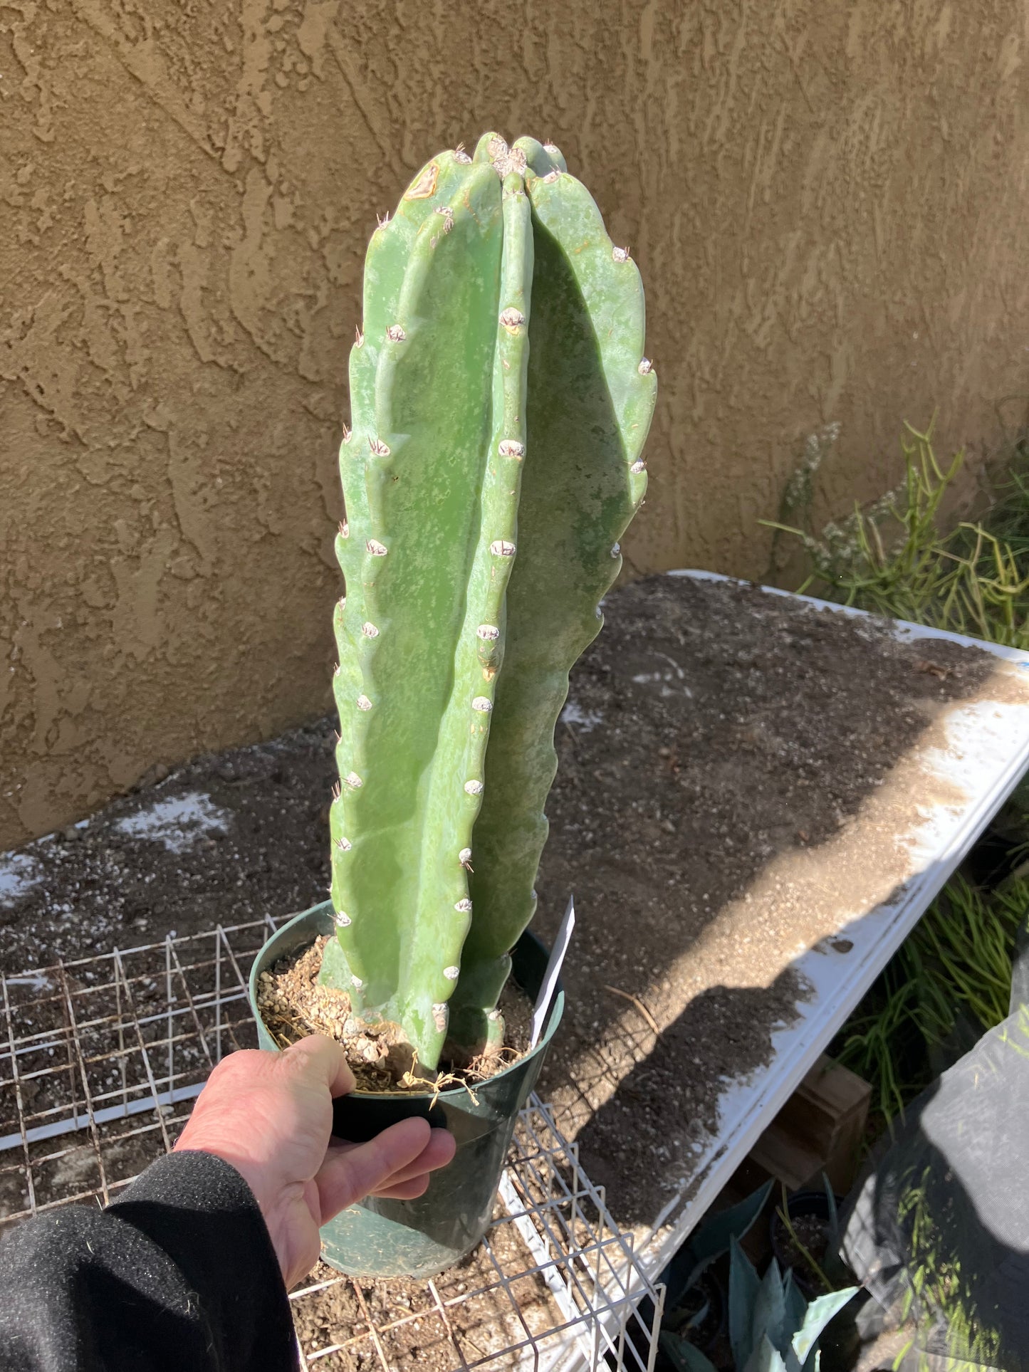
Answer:
[[[274,927],[0,974],[0,1228],[103,1205],[172,1148],[214,1063],[257,1047],[247,975]],[[320,1264],[291,1301],[305,1372],[652,1372],[663,1290],[532,1096],[493,1225],[464,1262],[428,1283]]]

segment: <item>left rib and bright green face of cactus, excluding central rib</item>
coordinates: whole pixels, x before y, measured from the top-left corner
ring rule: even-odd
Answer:
[[[434,193],[423,193],[427,169],[376,235],[365,340],[351,354],[344,572],[359,593],[350,590],[338,632],[340,661],[355,664],[372,708],[359,709],[357,683],[347,679],[338,749],[343,783],[331,809],[333,840],[351,845],[332,848],[344,956],[325,969],[332,980],[348,971],[355,1010],[405,1022],[407,1006],[397,997],[414,937],[420,801],[453,682],[477,520],[502,248],[495,176],[453,156],[429,169]],[[402,340],[387,335],[391,325],[402,328]],[[438,384],[449,388],[451,405],[431,403]],[[386,556],[369,553],[369,539]],[[450,929],[440,943],[436,982],[460,960],[461,936]],[[418,996],[429,1024],[438,999],[425,1004]]]

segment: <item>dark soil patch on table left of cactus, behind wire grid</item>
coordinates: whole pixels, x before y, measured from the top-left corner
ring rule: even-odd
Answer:
[[[11,973],[327,899],[333,722],[155,768],[80,825],[0,856]]]

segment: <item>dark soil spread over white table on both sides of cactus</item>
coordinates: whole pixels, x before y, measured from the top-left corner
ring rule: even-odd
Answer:
[[[796,955],[845,952],[841,911],[910,875],[941,716],[997,686],[982,652],[750,586],[650,578],[605,617],[557,729],[536,922],[569,892],[579,922],[538,1089],[615,1218],[649,1225],[796,1017]],[[202,757],[0,858],[0,966],[325,899],[332,741],[325,720]]]

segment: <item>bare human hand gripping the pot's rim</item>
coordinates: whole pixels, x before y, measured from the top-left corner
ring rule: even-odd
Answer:
[[[343,1048],[311,1034],[283,1052],[222,1058],[176,1152],[224,1158],[257,1196],[287,1290],[314,1266],[318,1227],[366,1195],[410,1200],[454,1157],[454,1137],[402,1120],[368,1143],[331,1139],[332,1099],[354,1089]]]

